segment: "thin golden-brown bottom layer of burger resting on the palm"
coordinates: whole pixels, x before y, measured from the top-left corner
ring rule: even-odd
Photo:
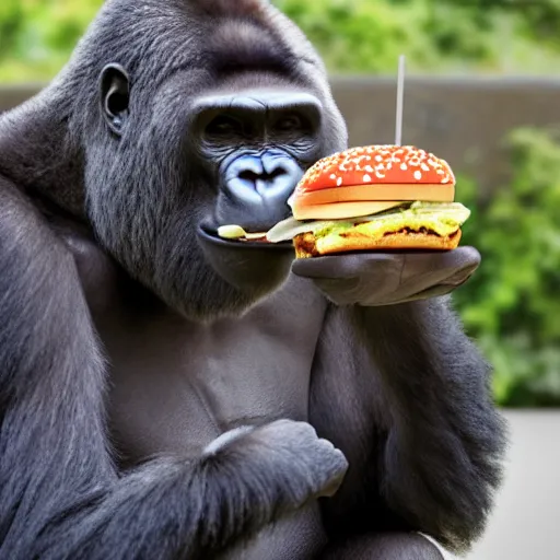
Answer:
[[[293,244],[298,258],[311,258],[332,253],[349,253],[351,250],[452,250],[457,248],[460,237],[460,230],[445,237],[434,233],[399,232],[388,233],[382,237],[369,237],[359,233],[348,233],[345,236],[317,238],[313,233],[302,233],[293,240]]]

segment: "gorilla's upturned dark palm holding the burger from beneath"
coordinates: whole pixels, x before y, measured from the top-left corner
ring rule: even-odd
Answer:
[[[363,253],[298,259],[294,275],[312,279],[337,305],[392,305],[445,295],[480,265],[474,247],[450,252]]]

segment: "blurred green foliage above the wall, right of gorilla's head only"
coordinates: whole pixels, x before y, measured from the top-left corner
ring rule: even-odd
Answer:
[[[552,34],[545,40],[535,26],[560,13],[558,0],[535,4],[540,2],[549,9],[508,0],[273,3],[303,28],[336,73],[393,73],[398,55],[406,54],[409,69],[422,73],[544,74],[560,70],[560,44]]]

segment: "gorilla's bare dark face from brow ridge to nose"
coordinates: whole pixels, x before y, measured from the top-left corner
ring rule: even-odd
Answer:
[[[280,86],[240,90],[202,97],[195,114],[192,137],[218,179],[215,221],[262,232],[284,219],[288,198],[317,156],[319,100]]]

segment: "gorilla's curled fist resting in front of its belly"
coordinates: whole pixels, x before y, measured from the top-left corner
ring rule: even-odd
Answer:
[[[265,510],[296,510],[310,500],[336,493],[348,469],[341,451],[317,436],[307,422],[277,420],[260,428],[224,433],[207,448],[218,460],[234,460],[240,468],[253,465],[252,480]],[[244,467],[245,466],[245,467]],[[257,492],[255,492],[257,494]]]

